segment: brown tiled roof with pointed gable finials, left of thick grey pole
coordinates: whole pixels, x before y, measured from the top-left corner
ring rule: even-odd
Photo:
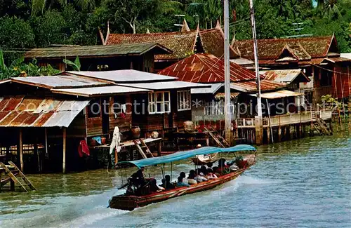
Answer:
[[[199,37],[199,39],[197,39]],[[220,27],[190,32],[159,32],[150,34],[110,34],[107,38],[107,45],[157,42],[173,51],[172,54],[156,55],[156,60],[180,60],[194,53],[197,41],[205,53],[211,53],[217,57],[223,55],[224,39]],[[232,58],[238,56],[234,49],[230,49]]]

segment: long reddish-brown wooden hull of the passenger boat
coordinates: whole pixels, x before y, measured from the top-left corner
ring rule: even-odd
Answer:
[[[157,192],[154,194],[146,195],[146,196],[126,196],[126,195],[118,195],[113,196],[110,200],[110,208],[120,209],[120,210],[134,210],[138,207],[147,206],[150,203],[157,203],[160,201],[166,201],[167,199],[175,198],[178,196],[183,196],[186,194],[192,194],[195,192],[201,192],[208,189],[213,189],[218,185],[222,185],[225,182],[229,182],[230,180],[235,179],[241,173],[244,173],[245,170],[250,168],[254,164],[246,166],[245,168],[241,168],[235,172],[228,173],[226,175],[222,175],[218,177],[218,179],[208,180],[206,182],[200,182],[197,185],[191,185],[190,187],[178,187],[176,189],[171,189],[165,192]]]

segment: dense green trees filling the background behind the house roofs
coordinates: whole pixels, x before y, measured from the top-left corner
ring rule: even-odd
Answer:
[[[296,34],[331,35],[341,52],[351,52],[351,0],[256,0],[258,38]],[[52,44],[99,44],[99,29],[144,33],[178,31],[185,15],[191,28],[223,20],[220,0],[0,0],[0,47],[6,63],[25,48]],[[232,36],[250,39],[249,0],[230,0]],[[295,25],[294,23],[303,23]],[[302,29],[299,29],[302,28]]]

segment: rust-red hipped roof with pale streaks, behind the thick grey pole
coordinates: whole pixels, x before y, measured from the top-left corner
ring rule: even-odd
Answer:
[[[225,81],[224,60],[210,54],[194,54],[161,70],[158,74],[176,76],[180,81],[216,83]],[[256,79],[255,72],[230,62],[230,80]]]

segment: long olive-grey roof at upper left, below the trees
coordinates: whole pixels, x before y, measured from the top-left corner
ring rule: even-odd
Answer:
[[[34,48],[25,53],[25,58],[81,58],[88,56],[106,55],[143,55],[154,49],[158,54],[170,54],[171,50],[159,43],[132,43],[109,46],[55,46],[49,48]]]

